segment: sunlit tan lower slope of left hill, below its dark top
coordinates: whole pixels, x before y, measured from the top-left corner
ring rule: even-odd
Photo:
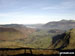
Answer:
[[[16,40],[21,39],[24,35],[20,32],[0,32],[0,40]]]

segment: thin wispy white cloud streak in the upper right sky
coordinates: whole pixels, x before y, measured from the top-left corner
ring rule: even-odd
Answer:
[[[75,8],[75,0],[63,0],[63,2],[60,2],[59,4],[55,4],[53,6],[46,6],[43,7],[43,10],[49,10],[49,9],[70,9]]]

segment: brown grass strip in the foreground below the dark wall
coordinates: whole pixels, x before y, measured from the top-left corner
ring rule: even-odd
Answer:
[[[32,52],[32,53],[31,53]],[[0,50],[0,55],[17,55],[17,54],[36,54],[36,55],[50,55],[50,54],[58,54],[59,51],[55,50],[38,50],[38,49],[21,49],[21,50]]]

